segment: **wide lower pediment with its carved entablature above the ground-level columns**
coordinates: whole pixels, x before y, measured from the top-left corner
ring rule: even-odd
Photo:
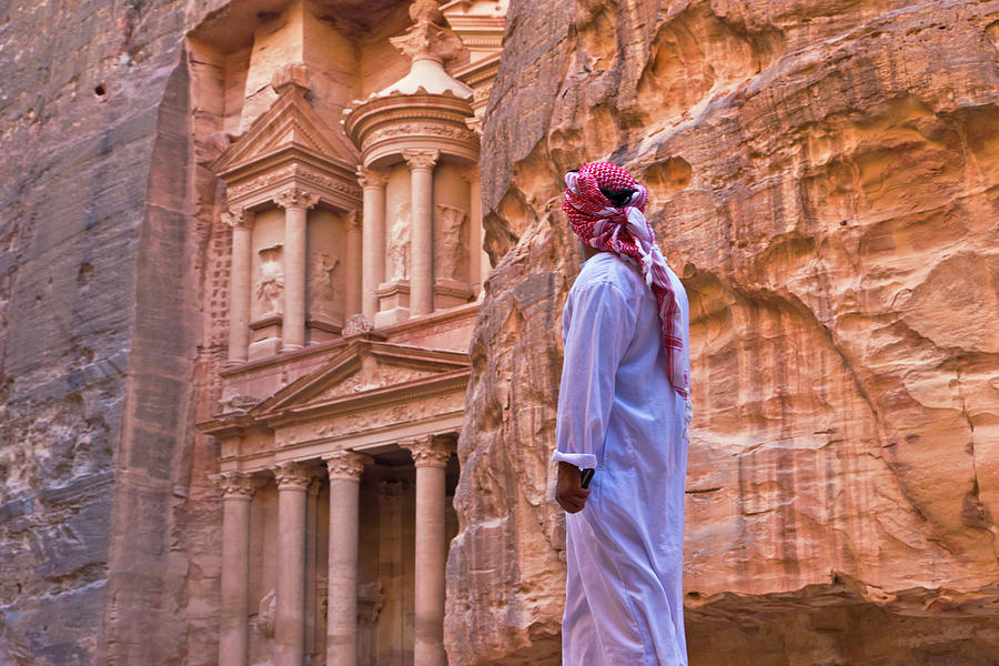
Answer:
[[[276,455],[322,458],[331,476],[354,477],[359,465],[369,461],[340,455],[341,451],[422,442],[430,434],[457,431],[470,374],[464,352],[356,337],[323,366],[251,407],[238,422],[222,414],[199,428],[233,442],[236,451],[225,462],[241,470],[272,470]],[[262,440],[266,440],[263,448],[254,445]],[[434,442],[442,451],[451,451],[447,441]],[[280,471],[292,483],[290,472],[295,470]]]

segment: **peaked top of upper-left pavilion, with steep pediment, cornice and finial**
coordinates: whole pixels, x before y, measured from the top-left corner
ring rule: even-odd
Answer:
[[[357,151],[305,99],[305,65],[289,63],[274,74],[272,88],[278,99],[271,108],[212,163],[226,184],[229,206],[259,208],[280,192],[297,189],[334,209],[356,209]]]

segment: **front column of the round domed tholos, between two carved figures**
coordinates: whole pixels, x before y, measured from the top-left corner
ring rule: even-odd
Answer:
[[[414,314],[434,311],[434,164],[436,150],[406,150],[410,165],[413,229],[410,236],[410,309]]]

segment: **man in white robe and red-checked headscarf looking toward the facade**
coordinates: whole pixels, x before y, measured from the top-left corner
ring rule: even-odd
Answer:
[[[586,263],[563,313],[556,500],[566,516],[566,666],[686,666],[688,305],[646,190],[594,162],[565,176]],[[582,487],[581,467],[596,473]]]

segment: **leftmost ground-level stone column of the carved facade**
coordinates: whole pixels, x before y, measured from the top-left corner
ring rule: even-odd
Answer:
[[[249,474],[223,472],[215,477],[222,491],[222,581],[219,608],[219,666],[246,666],[250,616]]]

